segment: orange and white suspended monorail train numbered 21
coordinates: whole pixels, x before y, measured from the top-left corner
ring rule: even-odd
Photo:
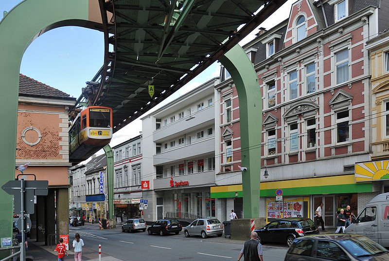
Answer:
[[[112,109],[90,106],[77,114],[69,128],[69,161],[79,163],[112,138]]]

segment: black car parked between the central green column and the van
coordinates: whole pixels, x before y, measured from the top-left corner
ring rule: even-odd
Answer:
[[[288,246],[295,238],[305,235],[318,234],[319,230],[311,219],[288,218],[278,219],[255,230],[261,243],[279,242]]]

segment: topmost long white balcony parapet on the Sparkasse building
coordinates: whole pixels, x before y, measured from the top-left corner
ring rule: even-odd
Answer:
[[[173,123],[170,123],[162,128],[155,130],[153,132],[153,141],[159,142],[162,139],[167,140],[171,137],[177,137],[181,134],[188,133],[188,129],[199,130],[201,128],[206,128],[214,124],[215,121],[215,112],[214,106],[207,107],[199,112],[192,113],[189,116],[186,116],[182,119],[176,120]]]

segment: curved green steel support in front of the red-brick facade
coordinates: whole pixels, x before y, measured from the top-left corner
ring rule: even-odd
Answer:
[[[239,97],[242,150],[243,215],[259,217],[259,185],[261,174],[262,100],[253,64],[239,45],[219,58],[229,71]]]

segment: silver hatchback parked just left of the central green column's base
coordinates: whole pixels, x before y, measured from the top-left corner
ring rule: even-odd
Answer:
[[[189,238],[192,235],[207,238],[211,235],[221,237],[223,235],[223,224],[218,219],[196,219],[184,228],[184,235]]]

